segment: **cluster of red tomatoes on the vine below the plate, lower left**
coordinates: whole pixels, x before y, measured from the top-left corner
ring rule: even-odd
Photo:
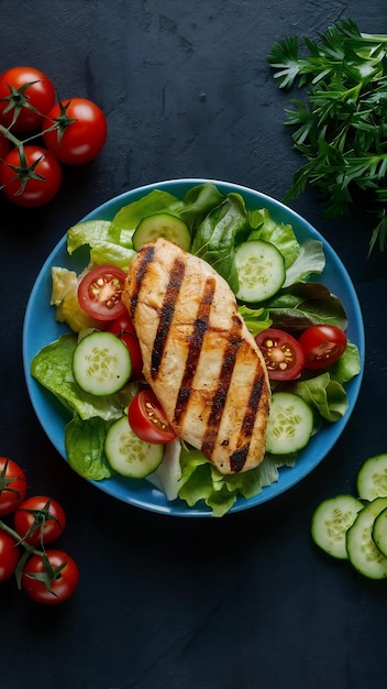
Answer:
[[[46,549],[62,535],[66,515],[53,497],[26,497],[26,488],[21,467],[0,457],[0,517],[13,516],[13,526],[0,518],[0,582],[14,575],[33,601],[56,605],[73,595],[79,579],[73,557]]]

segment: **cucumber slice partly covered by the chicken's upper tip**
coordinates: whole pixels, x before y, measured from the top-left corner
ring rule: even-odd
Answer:
[[[140,251],[144,244],[159,237],[174,242],[185,251],[189,250],[191,243],[188,225],[181,218],[169,212],[157,212],[140,220],[133,234],[133,249]]]

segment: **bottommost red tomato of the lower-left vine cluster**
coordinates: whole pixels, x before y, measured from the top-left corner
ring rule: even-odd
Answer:
[[[35,575],[44,575],[44,581]],[[76,561],[63,550],[46,550],[32,555],[22,572],[22,588],[36,603],[57,605],[67,601],[79,581]]]

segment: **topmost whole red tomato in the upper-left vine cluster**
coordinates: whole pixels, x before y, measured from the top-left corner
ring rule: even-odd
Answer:
[[[35,67],[11,67],[0,76],[0,122],[12,131],[36,129],[55,102],[51,79]]]

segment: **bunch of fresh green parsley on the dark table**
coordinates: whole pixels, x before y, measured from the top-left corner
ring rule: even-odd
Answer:
[[[369,252],[387,248],[387,35],[361,33],[353,20],[340,21],[303,39],[277,43],[267,59],[280,88],[306,87],[305,100],[285,109],[295,128],[294,146],[307,160],[294,175],[285,199],[307,183],[321,193],[328,217],[347,214],[356,200],[375,214]]]

